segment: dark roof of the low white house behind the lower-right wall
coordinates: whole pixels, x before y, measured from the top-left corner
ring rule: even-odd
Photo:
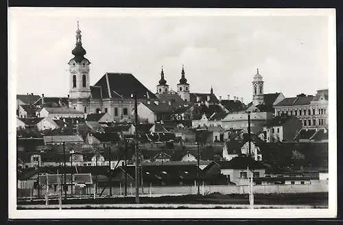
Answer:
[[[237,156],[230,161],[218,161],[222,169],[265,169],[266,166],[261,161],[255,161],[255,159],[249,156]]]

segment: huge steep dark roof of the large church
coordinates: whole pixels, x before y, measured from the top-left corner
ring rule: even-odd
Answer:
[[[150,98],[156,98],[154,93],[149,91],[131,73],[106,73],[102,76],[102,78],[100,78],[100,80],[95,84],[95,86],[101,86],[103,99],[110,97],[123,97],[129,99],[131,98],[131,95],[135,92],[137,92],[138,99],[147,99],[147,94]]]

